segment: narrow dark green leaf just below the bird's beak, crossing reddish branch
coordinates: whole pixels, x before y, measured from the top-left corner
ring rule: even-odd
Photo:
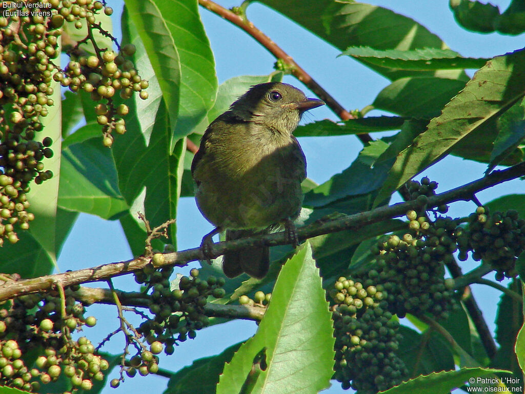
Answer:
[[[328,119],[299,126],[296,137],[346,136],[348,134],[373,133],[400,129],[404,119],[396,116],[377,116],[333,122]]]

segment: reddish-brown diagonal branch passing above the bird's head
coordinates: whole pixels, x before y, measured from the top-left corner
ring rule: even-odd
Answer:
[[[274,43],[270,37],[262,33],[257,27],[254,26],[249,20],[245,17],[237,15],[229,9],[224,8],[217,3],[212,2],[211,0],[199,0],[199,4],[209,11],[222,16],[224,19],[233,23],[234,25],[243,29],[250,36],[254,37],[259,44],[264,46],[272,55],[277,59],[282,59],[285,64],[290,67],[291,73],[297,79],[299,79],[304,85],[313,91],[321,100],[327,103],[327,106],[334,111],[334,113],[339,116],[342,120],[354,119],[355,117],[345,110],[343,106],[335,100],[330,94],[322,88],[309,74],[304,71],[301,66],[299,66],[293,58],[288,55],[281,47]],[[372,138],[368,134],[358,134],[358,138],[363,143],[368,143],[372,141]]]

